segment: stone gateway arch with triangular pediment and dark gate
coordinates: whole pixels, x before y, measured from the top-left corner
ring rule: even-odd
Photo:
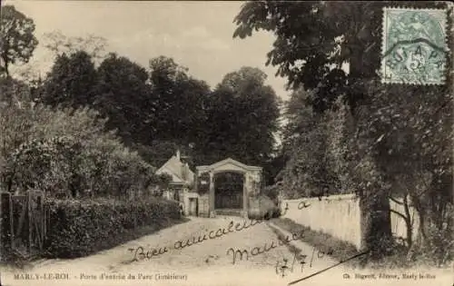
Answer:
[[[198,215],[239,214],[247,217],[249,197],[260,192],[262,167],[228,158],[212,165],[197,166],[195,180],[200,199]]]

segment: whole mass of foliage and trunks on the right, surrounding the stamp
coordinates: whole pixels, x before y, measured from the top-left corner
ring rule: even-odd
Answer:
[[[452,98],[447,95],[452,94],[452,84],[450,80],[439,87],[379,83],[381,9],[392,5],[248,2],[235,18],[233,36],[273,32],[276,40],[267,64],[278,66],[290,88],[304,88],[307,93],[299,104],[291,100],[300,111],[288,114],[284,152],[290,155],[281,173],[290,181],[285,182],[286,190],[292,192],[288,186],[292,183],[309,188],[320,173],[328,173],[331,185],[341,192],[357,192],[364,218],[362,239],[366,248],[380,249],[377,255],[389,253],[391,245],[386,245],[388,199],[410,195],[427,221],[423,228],[439,230],[431,238],[429,229],[421,231],[422,244],[443,256],[446,252],[435,244],[449,240],[450,224],[445,219],[452,209],[446,192],[452,187],[452,148],[446,146],[452,145]],[[399,5],[448,7],[441,2]],[[449,11],[452,15],[452,8]]]

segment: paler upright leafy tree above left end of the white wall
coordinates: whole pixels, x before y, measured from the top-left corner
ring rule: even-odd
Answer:
[[[341,192],[338,174],[328,151],[329,125],[325,116],[307,106],[310,93],[300,89],[291,94],[283,131],[283,150],[288,160],[278,175],[283,192],[291,198],[322,196]]]

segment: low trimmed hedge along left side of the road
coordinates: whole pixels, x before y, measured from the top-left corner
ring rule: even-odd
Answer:
[[[141,235],[182,219],[178,203],[156,197],[131,201],[48,199],[44,203],[49,210],[44,241],[47,258],[86,256],[132,240],[143,230]]]

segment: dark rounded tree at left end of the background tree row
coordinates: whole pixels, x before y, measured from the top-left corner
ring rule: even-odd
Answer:
[[[96,69],[84,51],[57,56],[39,92],[44,104],[80,107],[94,102]]]

